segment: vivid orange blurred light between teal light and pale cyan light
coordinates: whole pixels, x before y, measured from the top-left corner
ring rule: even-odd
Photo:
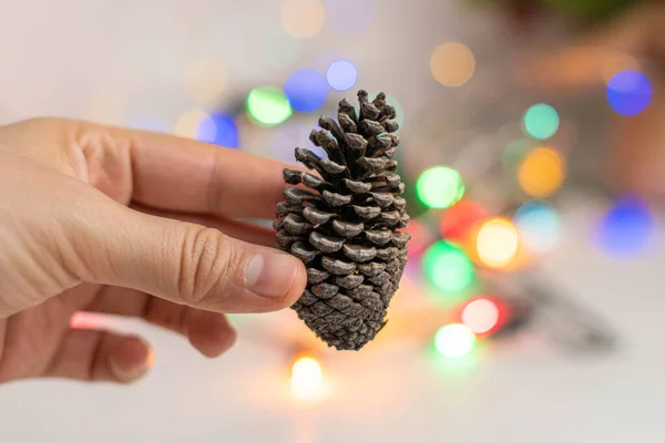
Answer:
[[[565,178],[565,158],[549,147],[538,147],[526,153],[518,171],[518,182],[532,197],[549,197]]]

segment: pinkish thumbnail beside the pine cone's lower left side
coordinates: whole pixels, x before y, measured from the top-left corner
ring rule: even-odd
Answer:
[[[294,284],[297,258],[286,254],[256,254],[245,269],[245,285],[260,297],[280,298]]]

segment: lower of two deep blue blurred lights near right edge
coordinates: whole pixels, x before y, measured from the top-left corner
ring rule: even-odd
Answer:
[[[604,251],[634,256],[648,247],[654,234],[653,215],[638,197],[618,198],[601,220],[597,234]]]

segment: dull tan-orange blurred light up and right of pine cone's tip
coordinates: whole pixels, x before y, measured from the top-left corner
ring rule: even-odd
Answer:
[[[466,84],[475,72],[475,58],[471,50],[458,42],[439,45],[430,59],[430,71],[443,86]]]

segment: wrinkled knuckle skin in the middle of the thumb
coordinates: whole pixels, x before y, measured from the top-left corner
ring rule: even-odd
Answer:
[[[185,236],[178,290],[188,305],[202,305],[225,293],[236,271],[234,248],[227,237],[212,228],[193,227]]]

